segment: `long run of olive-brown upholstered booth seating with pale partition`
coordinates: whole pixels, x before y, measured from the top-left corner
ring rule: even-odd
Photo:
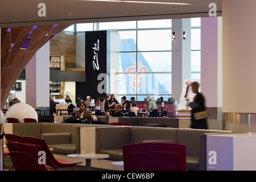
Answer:
[[[162,118],[164,119],[164,118]],[[166,118],[167,119],[167,118]],[[171,119],[171,118],[169,118]],[[134,143],[177,143],[185,145],[188,171],[205,170],[204,135],[230,133],[221,130],[178,129],[122,125],[88,125],[71,123],[6,123],[5,133],[41,138],[46,141],[55,158],[68,160],[70,154],[102,154],[107,159],[92,159],[92,167],[123,170],[112,162],[123,160],[122,146]],[[71,160],[71,159],[69,159]],[[73,162],[77,162],[73,160]],[[85,165],[84,162],[79,165]]]

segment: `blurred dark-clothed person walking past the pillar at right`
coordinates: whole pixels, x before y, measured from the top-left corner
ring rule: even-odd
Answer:
[[[204,97],[201,93],[199,93],[199,83],[194,81],[191,84],[191,89],[193,93],[196,93],[196,96],[194,98],[194,101],[189,104],[189,106],[192,108],[191,111],[191,128],[192,129],[208,129],[208,125],[207,125],[207,119],[199,119],[196,120],[194,118],[195,113],[198,113],[200,111],[204,111],[205,110],[205,105],[204,105]]]

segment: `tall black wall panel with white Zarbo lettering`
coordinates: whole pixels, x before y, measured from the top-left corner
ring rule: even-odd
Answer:
[[[76,82],[76,96],[94,100],[106,96],[107,31],[85,32],[85,82]],[[104,78],[105,77],[105,78]],[[99,89],[100,88],[100,89]]]

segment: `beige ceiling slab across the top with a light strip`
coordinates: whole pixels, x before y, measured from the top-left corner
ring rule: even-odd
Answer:
[[[129,1],[190,3],[191,5],[86,0],[1,0],[0,27],[205,17],[209,16],[210,3],[216,3],[217,15],[221,16],[221,0]],[[38,5],[42,2],[46,5],[45,17],[38,16],[40,10]],[[170,9],[170,7],[176,7],[176,9]]]

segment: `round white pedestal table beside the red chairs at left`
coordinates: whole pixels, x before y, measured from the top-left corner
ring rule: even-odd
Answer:
[[[91,170],[91,159],[106,159],[109,158],[108,154],[69,154],[68,158],[72,159],[85,159],[86,170]]]

